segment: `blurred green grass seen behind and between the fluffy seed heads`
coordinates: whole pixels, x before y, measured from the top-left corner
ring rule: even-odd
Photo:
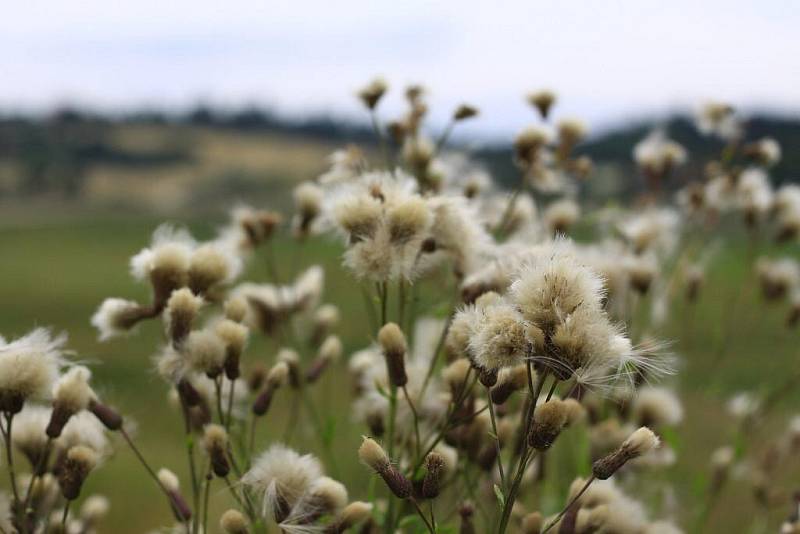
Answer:
[[[34,326],[68,331],[69,347],[80,360],[92,364],[100,394],[138,423],[137,439],[145,455],[154,464],[174,469],[185,480],[180,420],[167,402],[165,386],[151,371],[150,356],[159,343],[159,326],[147,324],[137,335],[100,344],[89,325],[89,317],[105,297],[146,298],[145,288],[128,275],[127,262],[147,244],[159,221],[125,215],[45,215],[29,214],[24,222],[6,220],[0,227],[0,298],[5,303],[0,311],[0,333],[14,338]],[[219,222],[190,221],[189,226],[198,237],[204,237]],[[785,307],[761,302],[742,262],[744,251],[744,245],[721,251],[697,308],[678,305],[665,333],[667,339],[675,341],[674,349],[682,358],[678,383],[687,417],[675,443],[678,465],[666,475],[676,485],[680,500],[695,498],[697,480],[707,470],[709,454],[732,435],[733,424],[722,408],[725,399],[742,389],[766,391],[800,366],[798,332],[785,331]],[[797,254],[797,248],[780,252]],[[340,306],[343,317],[363,317],[358,286],[339,266],[338,243],[313,240],[303,247],[299,257],[289,257],[282,243],[277,254],[298,267],[323,265],[324,301]],[[246,278],[260,281],[265,277],[262,261],[253,258]],[[733,328],[723,329],[721,325],[728,320]],[[362,347],[371,332],[364,321],[345,320],[340,334],[349,353]],[[722,363],[715,365],[715,347],[723,336],[730,336],[729,351]],[[269,362],[274,345],[254,337],[246,353],[247,361]],[[355,451],[362,429],[349,419],[347,391],[343,373],[336,371],[325,377],[317,394],[325,396],[320,400],[329,402],[331,413],[336,415],[334,450],[338,475],[351,489],[352,497],[357,498],[365,496],[369,476],[356,465]],[[800,391],[795,391],[779,411],[790,413],[798,401]],[[293,424],[288,414],[284,403],[273,408],[267,424],[262,425],[259,441],[281,436],[286,425]],[[293,445],[317,451],[318,443],[310,428],[301,425]],[[786,466],[785,472],[787,477],[794,475],[795,480],[800,476],[797,465]],[[112,501],[113,513],[104,532],[141,533],[170,522],[168,510],[151,481],[122,444],[115,457],[90,481],[86,495],[102,492]],[[737,526],[750,523],[750,510],[747,484],[726,491],[724,506],[712,517],[713,531],[743,531]],[[778,510],[775,517],[784,510]]]

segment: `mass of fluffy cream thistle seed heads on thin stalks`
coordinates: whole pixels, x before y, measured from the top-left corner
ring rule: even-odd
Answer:
[[[152,367],[184,434],[182,465],[139,448],[136,425],[98,396],[66,336],[0,341],[2,531],[98,531],[110,504],[82,490],[114,448],[150,478],[167,531],[189,534],[701,532],[740,472],[763,509],[786,501],[772,481],[800,451],[800,424],[757,459],[745,435],[793,381],[729,403],[737,439],[710,458],[702,498],[681,508],[652,490],[682,453],[687,411],[665,325],[680,307],[682,335],[707,334],[692,314],[725,221],[747,236],[750,285],[788,304],[787,325],[800,322],[800,264],[759,257],[768,238],[800,237],[800,188],[775,189],[768,174],[780,146],[747,139],[733,108],[709,104],[698,129],[724,147],[702,176],[682,176],[688,152],[657,129],[632,147],[639,198],[602,208],[583,194],[588,127],[560,115],[556,93],[521,106],[530,125],[510,147],[510,193],[451,149],[478,108],[457,104],[435,136],[422,86],[385,120],[391,95],[382,79],[358,91],[374,145],[335,152],[285,213],[237,206],[206,241],[158,227],[130,261],[149,299],[108,298],[91,317],[100,341],[159,323]],[[335,278],[303,260],[321,235],[340,240],[357,306],[325,302]],[[266,279],[252,274],[262,263]],[[343,327],[359,337],[340,339]],[[357,433],[341,430],[342,412]],[[365,469],[343,472],[356,458]],[[793,506],[784,532],[798,528]]]

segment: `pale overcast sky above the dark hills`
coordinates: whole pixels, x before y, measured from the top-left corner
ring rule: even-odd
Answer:
[[[479,106],[475,131],[528,122],[521,95],[540,87],[600,126],[711,98],[798,114],[798,29],[792,0],[7,2],[0,110],[206,101],[349,116],[381,74],[429,87],[438,118]]]

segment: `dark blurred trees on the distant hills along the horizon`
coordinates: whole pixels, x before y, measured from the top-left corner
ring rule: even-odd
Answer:
[[[62,108],[47,116],[0,113],[0,163],[14,163],[19,173],[14,190],[0,189],[0,195],[36,195],[59,192],[78,196],[87,166],[107,163],[128,167],[156,167],[189,160],[188,140],[176,136],[156,151],[131,152],[115,146],[110,132],[125,125],[164,125],[228,131],[271,133],[302,140],[334,144],[355,142],[373,144],[371,128],[366,124],[317,116],[306,119],[286,118],[268,109],[248,106],[223,111],[197,106],[183,113],[141,110],[127,114],[103,115],[78,108]],[[697,162],[718,154],[718,141],[698,134],[692,121],[676,116],[661,122],[631,123],[591,137],[580,147],[598,165],[612,166],[624,176],[635,176],[631,159],[633,146],[654,126],[667,129],[670,137],[689,151],[689,163],[674,177],[673,187],[696,178],[702,172]],[[773,169],[776,183],[800,177],[800,120],[756,116],[747,122],[747,139],[775,138],[783,148],[781,162]],[[508,146],[486,146],[475,154],[500,183],[511,185],[517,172]],[[636,180],[629,180],[632,190]]]

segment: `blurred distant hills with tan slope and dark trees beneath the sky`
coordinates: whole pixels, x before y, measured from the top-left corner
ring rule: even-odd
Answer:
[[[639,177],[631,151],[654,126],[619,127],[578,148],[597,165],[591,194],[637,190]],[[659,126],[690,154],[673,186],[698,176],[702,162],[719,153],[721,144],[700,136],[685,117],[673,117]],[[783,158],[772,171],[776,182],[800,178],[800,120],[753,117],[747,135],[748,139],[774,137],[783,147]],[[329,117],[288,119],[252,107],[222,112],[200,106],[181,115],[145,110],[115,117],[76,109],[46,118],[0,114],[0,199],[37,195],[80,199],[98,191],[106,197],[136,198],[126,196],[134,185],[137,193],[147,191],[156,198],[161,196],[159,186],[171,186],[177,198],[193,180],[205,188],[197,202],[219,194],[250,197],[265,187],[276,191],[276,181],[312,178],[323,169],[325,154],[348,142],[372,145],[374,137],[362,124]],[[475,157],[501,184],[516,183],[509,147],[485,147]],[[180,177],[177,184],[176,177]]]

